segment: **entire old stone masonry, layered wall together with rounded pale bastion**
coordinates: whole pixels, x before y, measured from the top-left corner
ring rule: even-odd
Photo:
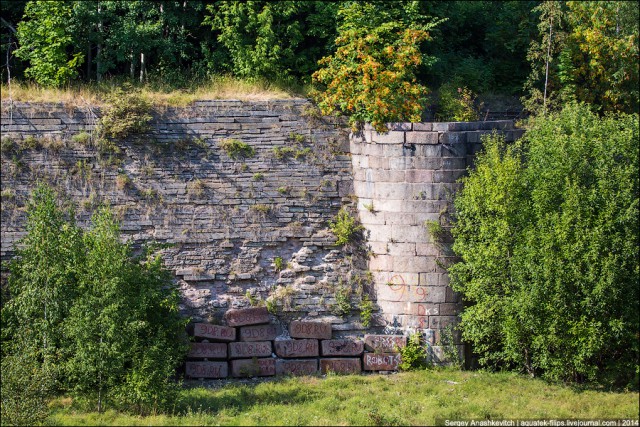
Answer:
[[[24,236],[30,190],[45,180],[75,202],[79,225],[108,201],[134,249],[170,244],[161,253],[193,323],[224,323],[228,310],[270,300],[280,319],[331,323],[333,338],[420,329],[437,341],[461,301],[443,268],[451,242],[434,242],[425,221],[447,229],[449,195],[483,135],[495,130],[513,141],[523,131],[511,121],[397,123],[387,134],[365,126],[349,136],[344,122],[309,111],[304,99],[167,107],[154,112],[148,134],[101,155],[72,140],[95,130],[99,108],[3,101],[3,141],[38,143],[5,150],[3,142],[2,260]],[[255,156],[230,158],[220,148],[226,139],[249,144]],[[295,155],[277,156],[284,148]],[[350,262],[327,224],[355,200],[375,256]],[[340,279],[367,269],[376,304],[365,331],[357,310],[338,317],[331,307]]]

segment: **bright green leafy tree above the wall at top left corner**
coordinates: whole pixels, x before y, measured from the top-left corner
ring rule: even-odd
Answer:
[[[84,56],[73,51],[75,26],[68,1],[30,1],[26,20],[18,24],[20,47],[14,52],[29,61],[27,77],[43,86],[61,86],[78,76]]]

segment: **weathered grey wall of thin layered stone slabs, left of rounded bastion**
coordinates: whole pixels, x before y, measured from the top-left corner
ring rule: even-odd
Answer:
[[[3,104],[3,260],[24,235],[30,190],[44,180],[75,203],[81,225],[108,201],[134,247],[170,244],[164,259],[194,322],[219,322],[227,309],[271,297],[280,318],[330,321],[338,333],[362,329],[355,285],[351,315],[332,314],[337,287],[366,268],[335,246],[327,224],[353,201],[340,123],[300,99],[200,101],[155,111],[151,132],[101,153],[82,141],[100,114],[90,106]],[[230,158],[220,148],[228,139],[255,155]]]

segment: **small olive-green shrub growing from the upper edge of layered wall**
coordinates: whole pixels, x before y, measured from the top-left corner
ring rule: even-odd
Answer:
[[[102,137],[116,139],[145,133],[150,128],[150,112],[151,104],[141,96],[140,90],[130,85],[116,88],[100,118],[99,133]]]

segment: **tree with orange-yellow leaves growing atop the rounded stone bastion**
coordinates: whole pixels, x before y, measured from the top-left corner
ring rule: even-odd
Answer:
[[[422,55],[420,44],[438,22],[419,15],[416,2],[406,9],[390,4],[396,8],[375,1],[341,8],[337,49],[313,74],[322,113],[348,115],[354,128],[369,122],[386,132],[386,122],[421,118],[427,89],[415,72],[432,60]]]

